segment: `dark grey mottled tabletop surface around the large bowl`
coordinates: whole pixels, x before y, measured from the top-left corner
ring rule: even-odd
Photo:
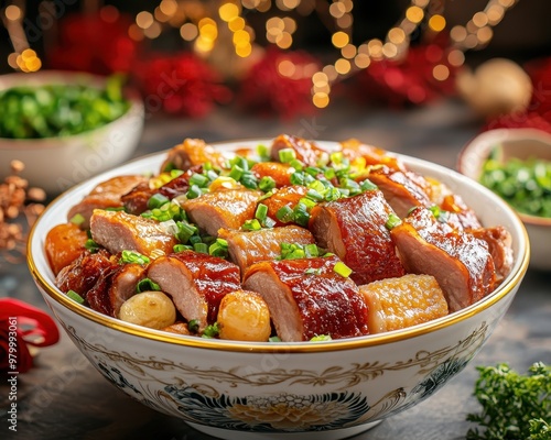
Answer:
[[[292,133],[316,140],[357,138],[412,156],[454,167],[461,147],[482,123],[461,102],[441,101],[408,110],[337,105],[316,117],[282,121],[220,109],[205,119],[149,114],[136,156],[169,148],[184,138],[207,142],[271,138]],[[430,399],[385,420],[356,440],[462,439],[468,413],[479,409],[472,396],[477,365],[508,362],[525,372],[536,361],[551,363],[551,274],[529,270],[505,319],[475,360]],[[0,296],[12,296],[46,310],[25,263],[0,261]],[[0,383],[1,439],[209,439],[179,419],[158,414],[111,386],[62,334],[42,349],[35,367],[20,376],[18,432],[7,426],[8,384]]]

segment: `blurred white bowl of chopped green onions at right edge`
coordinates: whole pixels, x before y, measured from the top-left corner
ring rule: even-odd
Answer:
[[[500,146],[503,160],[534,156],[551,161],[551,134],[536,129],[496,129],[486,131],[464,146],[457,160],[460,173],[478,180],[484,161]],[[551,218],[518,212],[530,238],[530,266],[551,271]]]

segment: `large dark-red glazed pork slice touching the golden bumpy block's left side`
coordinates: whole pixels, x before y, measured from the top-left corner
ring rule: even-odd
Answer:
[[[249,267],[244,288],[258,292],[284,342],[368,334],[367,306],[357,285],[338,275],[331,257],[267,261]]]

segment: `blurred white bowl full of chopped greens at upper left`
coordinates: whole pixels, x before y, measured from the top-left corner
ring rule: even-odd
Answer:
[[[34,74],[0,76],[0,89],[19,85],[84,84],[101,87],[105,78],[83,73],[41,70]],[[128,161],[143,130],[143,105],[136,94],[127,97],[129,110],[115,121],[85,133],[47,139],[0,138],[0,180],[10,174],[10,163],[19,160],[21,176],[31,186],[51,195],[71,188],[101,172]]]

